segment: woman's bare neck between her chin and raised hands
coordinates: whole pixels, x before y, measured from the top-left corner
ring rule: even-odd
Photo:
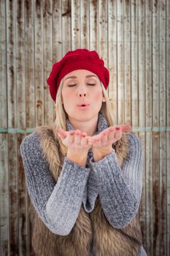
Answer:
[[[88,136],[93,136],[97,130],[98,115],[94,116],[93,119],[85,121],[79,121],[69,117],[69,122],[74,129],[80,129],[81,132],[86,132]]]

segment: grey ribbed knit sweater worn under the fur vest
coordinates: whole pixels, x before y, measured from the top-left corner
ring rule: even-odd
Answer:
[[[67,130],[74,129],[68,119],[66,127]],[[107,127],[106,119],[99,113],[96,134]],[[39,217],[53,233],[61,236],[69,234],[82,203],[85,211],[93,211],[98,195],[104,214],[113,227],[121,228],[131,222],[139,209],[142,193],[142,146],[139,138],[132,134],[128,135],[128,143],[128,157],[121,168],[115,151],[93,162],[90,149],[86,167],[65,157],[56,183],[48,163],[42,157],[39,136],[32,133],[23,139],[20,153],[28,194]],[[142,246],[139,255],[146,255]]]

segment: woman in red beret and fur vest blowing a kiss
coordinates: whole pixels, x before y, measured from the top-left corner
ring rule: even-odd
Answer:
[[[137,218],[142,146],[128,124],[113,124],[104,61],[96,51],[69,51],[47,83],[55,122],[36,127],[20,146],[34,252],[146,255]]]

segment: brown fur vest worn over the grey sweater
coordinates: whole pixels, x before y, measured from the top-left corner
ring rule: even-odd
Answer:
[[[61,154],[54,127],[37,127],[43,157],[47,159],[50,172],[58,181],[64,156]],[[121,165],[127,157],[128,140],[125,134],[113,144],[117,160]],[[52,233],[39,218],[30,203],[32,246],[36,256],[90,256],[93,248],[95,256],[136,256],[142,245],[138,216],[121,229],[109,224],[101,208],[99,197],[92,212],[87,213],[82,206],[72,231],[67,236]]]

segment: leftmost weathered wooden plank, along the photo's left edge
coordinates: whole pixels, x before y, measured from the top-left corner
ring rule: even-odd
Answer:
[[[7,129],[7,13],[0,1],[0,127]],[[9,190],[7,134],[0,134],[0,255],[8,255],[9,246]],[[15,243],[18,246],[18,243]]]

